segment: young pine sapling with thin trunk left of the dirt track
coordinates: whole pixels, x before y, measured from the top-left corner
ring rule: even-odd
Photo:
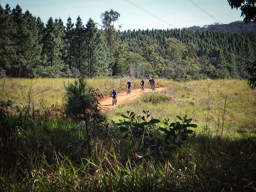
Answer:
[[[100,110],[98,98],[100,92],[88,85],[84,78],[73,83],[64,84],[66,93],[63,97],[66,115],[75,121],[85,122],[88,155],[91,157],[89,123],[102,121],[104,115]]]

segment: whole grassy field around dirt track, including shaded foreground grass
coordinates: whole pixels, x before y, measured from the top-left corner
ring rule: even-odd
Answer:
[[[20,102],[24,107],[28,98],[31,106],[58,101],[61,107],[62,82],[72,80],[1,79],[1,100],[13,99],[13,111],[22,107]],[[125,91],[126,80],[88,82],[109,95],[113,87]],[[130,80],[139,88],[140,80]],[[1,117],[0,191],[255,191],[256,92],[248,88],[247,81],[156,83],[166,87],[164,92],[145,93],[108,111],[106,122],[92,124],[91,157],[86,152],[88,137],[77,126],[79,122],[65,116],[29,119],[21,113]],[[141,118],[143,110],[147,123]],[[168,144],[159,153],[154,147],[164,139],[160,129],[166,127],[165,119],[182,124],[176,116],[185,115],[197,124],[191,127],[194,133],[180,147]],[[125,129],[114,125],[131,118],[130,128],[147,127],[142,141],[136,139],[138,132],[124,139]],[[153,119],[160,121],[150,124]],[[143,140],[148,150],[140,148]]]

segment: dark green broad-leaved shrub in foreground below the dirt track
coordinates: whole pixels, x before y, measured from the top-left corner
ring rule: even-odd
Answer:
[[[120,128],[120,132],[124,133],[124,139],[130,140],[131,147],[140,155],[158,157],[161,153],[170,152],[173,145],[181,147],[182,143],[188,140],[188,135],[194,131],[188,127],[196,128],[196,124],[190,124],[192,119],[187,119],[187,115],[183,118],[176,116],[180,122],[170,123],[169,119],[164,122],[165,127],[157,126],[159,119],[151,119],[147,121],[151,113],[143,111],[145,116],[136,116],[134,112],[127,111],[128,116],[122,114],[125,120],[121,123],[114,124]],[[127,120],[127,121],[126,121]],[[162,131],[162,132],[161,132]],[[157,134],[158,133],[158,134]],[[142,156],[141,156],[142,157]]]

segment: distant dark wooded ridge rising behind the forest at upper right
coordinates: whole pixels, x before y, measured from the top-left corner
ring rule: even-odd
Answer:
[[[250,22],[245,24],[243,21],[234,21],[229,24],[219,24],[214,23],[212,25],[193,26],[189,28],[184,28],[191,31],[220,31],[220,32],[230,32],[230,33],[255,33],[256,34],[256,23]]]

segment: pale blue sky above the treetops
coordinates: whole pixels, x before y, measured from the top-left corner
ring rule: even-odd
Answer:
[[[192,4],[191,1],[204,11]],[[241,11],[239,9],[231,10],[227,0],[0,0],[2,7],[5,7],[7,3],[11,8],[19,4],[23,12],[28,9],[32,15],[39,16],[44,23],[51,16],[53,19],[61,18],[64,24],[67,23],[68,16],[70,16],[72,22],[76,23],[76,18],[79,15],[84,24],[90,17],[94,22],[100,24],[100,14],[113,9],[120,13],[115,27],[118,28],[118,25],[122,24],[122,31],[138,30],[139,28],[141,30],[147,28],[171,29],[194,25],[202,27],[217,21],[228,24],[236,20],[243,20],[240,17]]]

